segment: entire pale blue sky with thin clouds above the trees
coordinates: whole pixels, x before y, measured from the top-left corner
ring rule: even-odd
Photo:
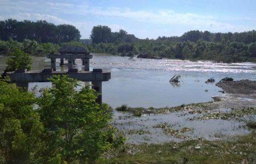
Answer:
[[[72,24],[81,38],[95,25],[125,29],[138,38],[181,36],[191,30],[243,32],[256,29],[256,0],[0,0],[0,20],[47,20]]]

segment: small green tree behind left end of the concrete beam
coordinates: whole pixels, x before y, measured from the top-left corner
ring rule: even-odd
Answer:
[[[18,69],[31,69],[32,59],[30,55],[24,53],[22,50],[15,48],[10,58],[7,60],[7,71],[15,71]]]

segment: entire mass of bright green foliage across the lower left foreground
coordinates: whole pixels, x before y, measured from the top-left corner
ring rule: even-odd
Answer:
[[[39,98],[0,81],[0,163],[93,163],[123,143],[95,90],[67,76],[51,81]]]

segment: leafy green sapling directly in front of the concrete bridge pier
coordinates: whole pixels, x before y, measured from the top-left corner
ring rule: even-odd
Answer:
[[[50,80],[55,87],[42,91],[37,109],[48,141],[44,156],[93,163],[112,145],[109,107],[96,103],[95,90],[77,90],[74,79],[53,76]]]

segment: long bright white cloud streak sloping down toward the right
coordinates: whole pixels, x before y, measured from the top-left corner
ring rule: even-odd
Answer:
[[[214,32],[241,32],[253,29],[245,25],[232,25],[222,23],[219,18],[211,15],[199,15],[193,13],[179,13],[174,10],[133,11],[129,8],[92,8],[86,11],[92,15],[106,16],[113,18],[125,18],[144,23],[163,24],[163,25],[187,25],[191,29],[208,30]],[[236,18],[233,18],[236,19]],[[237,18],[243,20],[254,20],[254,18]]]

